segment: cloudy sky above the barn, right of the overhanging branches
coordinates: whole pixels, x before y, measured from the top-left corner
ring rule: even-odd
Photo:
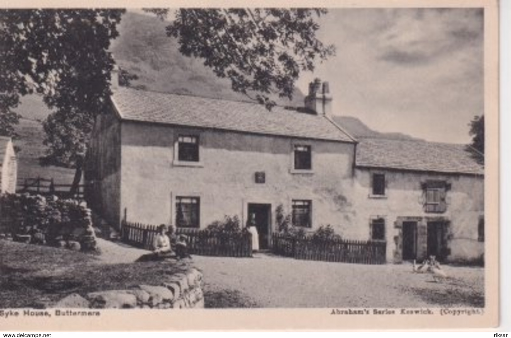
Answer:
[[[304,73],[330,83],[335,115],[381,132],[469,143],[484,109],[482,9],[330,9],[318,37],[336,56]]]

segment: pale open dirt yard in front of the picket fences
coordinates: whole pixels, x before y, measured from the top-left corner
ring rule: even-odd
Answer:
[[[410,264],[359,265],[254,258],[194,256],[204,290],[220,306],[249,307],[467,307],[484,306],[484,270],[444,266],[434,282]],[[221,298],[227,298],[221,302]],[[217,302],[218,304],[218,302]]]

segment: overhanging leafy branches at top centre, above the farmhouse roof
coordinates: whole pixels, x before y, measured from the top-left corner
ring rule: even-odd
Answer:
[[[167,9],[146,10],[165,18]],[[292,98],[301,71],[335,53],[316,38],[326,9],[180,9],[167,26],[185,56],[204,60],[234,91],[271,109],[271,94]]]

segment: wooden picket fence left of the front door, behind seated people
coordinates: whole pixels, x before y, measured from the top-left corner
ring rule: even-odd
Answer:
[[[154,237],[158,232],[156,225],[142,223],[122,223],[124,243],[152,249]],[[177,228],[176,236],[187,236],[190,254],[202,256],[251,257],[252,238],[249,232],[217,232],[200,229]]]

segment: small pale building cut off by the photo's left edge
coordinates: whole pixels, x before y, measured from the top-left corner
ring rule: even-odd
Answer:
[[[10,137],[0,136],[0,193],[15,193],[18,164]]]

